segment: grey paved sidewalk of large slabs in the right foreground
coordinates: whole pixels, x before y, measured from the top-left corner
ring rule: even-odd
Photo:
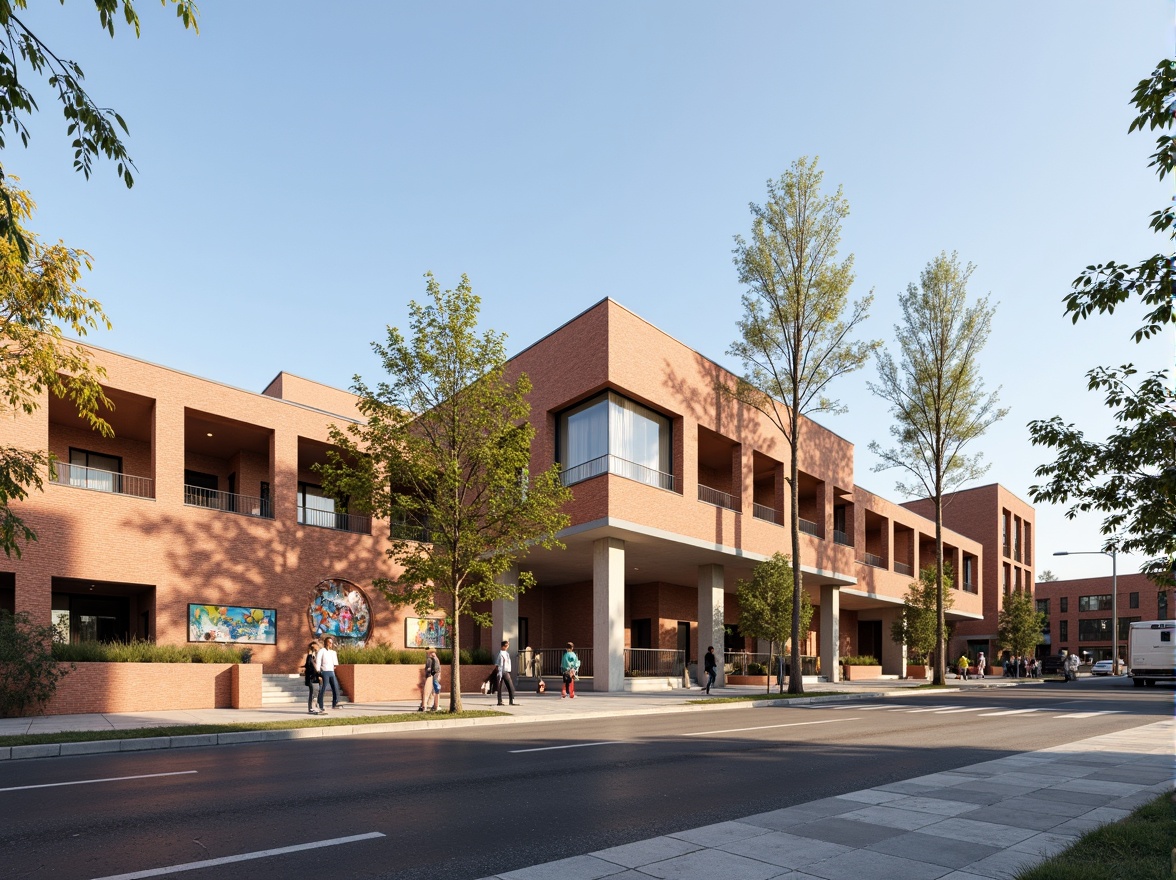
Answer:
[[[486,880],[1003,880],[1171,791],[1174,733],[1169,719]]]

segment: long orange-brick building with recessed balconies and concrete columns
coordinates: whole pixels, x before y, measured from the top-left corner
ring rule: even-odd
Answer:
[[[258,394],[93,353],[116,405],[113,438],[48,399],[0,432],[61,462],[19,506],[39,540],[0,562],[0,607],[62,620],[72,638],[161,642],[199,638],[200,626],[222,639],[218,615],[239,608],[250,626],[262,621],[254,658],[275,672],[298,662],[320,612],[350,627],[336,629],[345,636],[412,645],[423,624],[370,588],[394,574],[389,524],[325,498],[313,469],[329,426],[358,418],[350,394],[286,373]],[[790,549],[779,432],[716,394],[731,378],[721,366],[609,299],[509,368],[533,380],[533,467],[560,462],[572,525],[566,549],[522,562],[539,586],[496,604],[493,632],[463,627],[463,646],[572,640],[592,648],[594,686],[612,691],[624,687],[628,648],[694,661],[708,645],[742,647],[736,582]],[[917,571],[934,565],[926,502],[857,486],[853,444],[818,424],[806,421],[802,436],[800,565],[816,606],[802,653],[834,679],[846,654],[875,654],[903,674],[890,625]],[[1033,582],[1033,508],[987,486],[956,493],[944,521],[947,558],[962,573],[949,619],[969,646],[990,640],[1002,587]]]

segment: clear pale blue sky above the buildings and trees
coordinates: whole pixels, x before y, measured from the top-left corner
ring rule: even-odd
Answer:
[[[818,155],[851,206],[842,253],[866,333],[941,249],[1000,302],[984,353],[1009,416],[973,451],[1028,499],[1045,453],[1025,424],[1112,427],[1084,373],[1170,367],[1171,334],[1134,345],[1137,312],[1074,327],[1061,300],[1090,262],[1164,247],[1171,198],[1128,136],[1131,88],[1174,53],[1171,0],[1130,2],[350,2],[203,0],[200,35],[138,4],[109,39],[83,0],[26,14],[131,126],[138,180],[71,171],[41,92],[29,149],[5,152],[33,227],[89,251],[107,348],[260,391],[279,371],[347,387],[369,342],[406,325],[421,275],[467,273],[483,326],[517,351],[612,296],[702,354],[726,352],[748,202]],[[887,407],[874,367],[821,419],[871,473]],[[1037,569],[1109,573],[1097,520],[1037,507]],[[1122,558],[1122,572],[1140,560]]]

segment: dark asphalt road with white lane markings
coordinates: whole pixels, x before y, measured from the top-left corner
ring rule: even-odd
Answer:
[[[129,880],[218,860],[180,876],[482,878],[1135,727],[1171,707],[1170,688],[1110,679],[11,761],[0,876]]]

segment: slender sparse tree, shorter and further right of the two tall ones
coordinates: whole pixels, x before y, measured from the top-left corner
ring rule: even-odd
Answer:
[[[897,484],[898,492],[935,502],[935,572],[943,595],[943,495],[982,475],[988,466],[980,454],[963,448],[1008,409],[996,406],[997,392],[984,393],[980,353],[993,328],[988,298],[968,305],[968,279],[974,267],[960,265],[956,254],[940,253],[920,274],[920,284],[900,294],[902,322],[895,325],[898,360],[877,354],[878,381],[871,392],[890,404],[895,424],[891,448],[870,444],[880,461],[875,471],[904,469],[914,482]],[[936,651],[933,682],[947,679],[944,606],[936,600]]]

